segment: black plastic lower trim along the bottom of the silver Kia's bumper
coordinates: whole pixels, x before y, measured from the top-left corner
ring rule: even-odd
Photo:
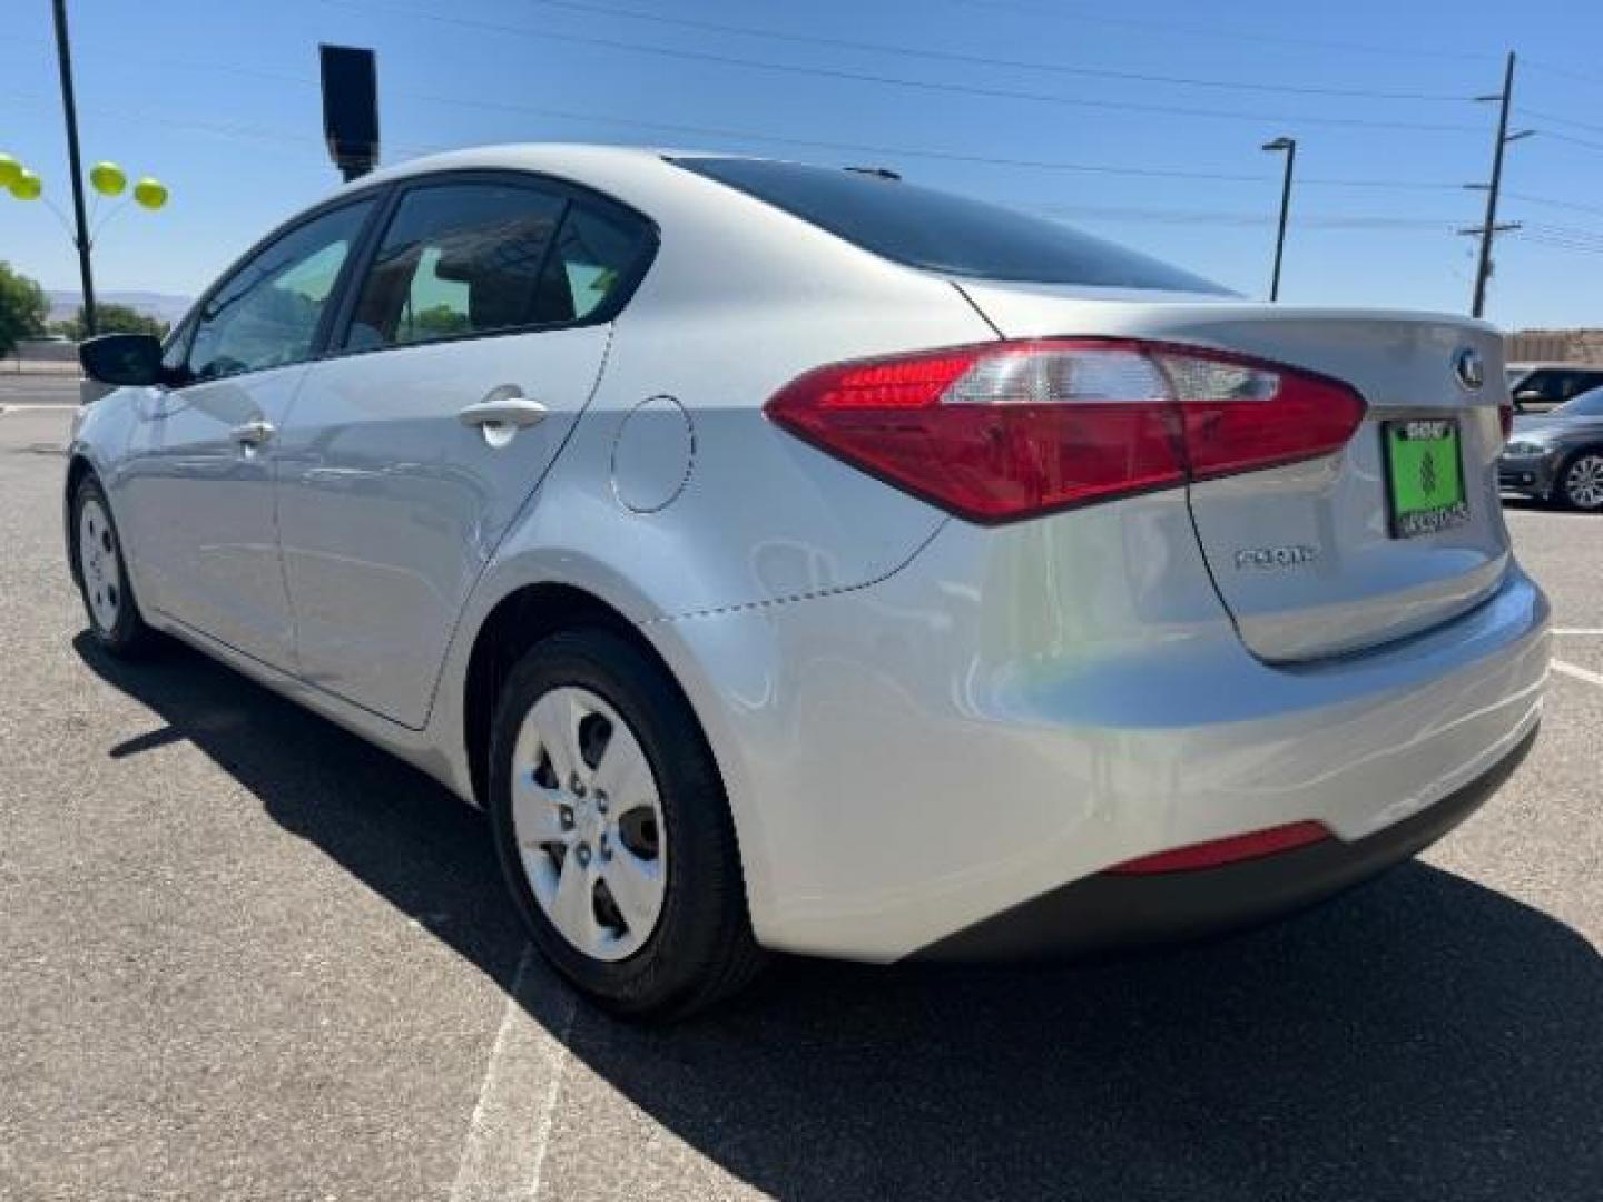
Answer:
[[[1193,872],[1096,873],[1032,897],[915,952],[912,960],[1024,960],[1180,942],[1252,926],[1359,885],[1451,832],[1529,753],[1537,728],[1441,801],[1364,838],[1319,843]]]

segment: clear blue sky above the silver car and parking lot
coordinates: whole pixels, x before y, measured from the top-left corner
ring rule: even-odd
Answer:
[[[1460,184],[1486,178],[1496,117],[1468,98],[1497,91],[1513,48],[1515,122],[1539,133],[1508,151],[1500,216],[1526,229],[1500,244],[1488,316],[1507,327],[1603,325],[1603,5],[71,8],[87,162],[115,159],[173,194],[164,212],[130,208],[106,228],[96,247],[104,290],[194,293],[337,184],[321,139],[316,45],[341,42],[378,51],[386,162],[489,141],[619,141],[891,165],[1052,210],[1247,295],[1266,290],[1279,200],[1279,159],[1258,147],[1292,135],[1303,183],[1282,300],[1464,311],[1473,240],[1452,231],[1480,221],[1483,194]],[[8,10],[0,151],[38,170],[66,212],[50,5]],[[43,205],[0,194],[0,258],[46,287],[77,285],[71,245]]]

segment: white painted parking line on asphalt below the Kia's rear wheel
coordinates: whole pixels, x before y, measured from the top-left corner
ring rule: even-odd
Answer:
[[[534,947],[526,944],[484,1066],[479,1099],[450,1186],[452,1202],[507,1202],[540,1192],[545,1146],[551,1138],[577,1010],[566,989],[555,1005],[543,1005],[550,995],[539,997],[540,989],[561,987],[542,971]],[[537,1010],[551,1011],[550,1029],[534,1016]]]

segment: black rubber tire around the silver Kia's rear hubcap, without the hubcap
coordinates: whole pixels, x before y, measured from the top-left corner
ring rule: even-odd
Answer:
[[[513,827],[511,774],[518,731],[548,691],[577,686],[628,724],[656,777],[667,878],[656,926],[622,960],[592,957],[567,941],[531,888]],[[664,668],[603,628],[561,631],[518,662],[502,688],[491,731],[489,813],[502,872],[535,946],[580,992],[614,1014],[683,1018],[745,986],[763,962],[752,938],[729,803],[688,702]]]

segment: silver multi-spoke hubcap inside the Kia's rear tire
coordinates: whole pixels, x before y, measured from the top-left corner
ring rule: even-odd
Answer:
[[[622,960],[662,915],[662,801],[640,740],[600,696],[542,694],[513,748],[511,819],[540,910],[574,947]]]

